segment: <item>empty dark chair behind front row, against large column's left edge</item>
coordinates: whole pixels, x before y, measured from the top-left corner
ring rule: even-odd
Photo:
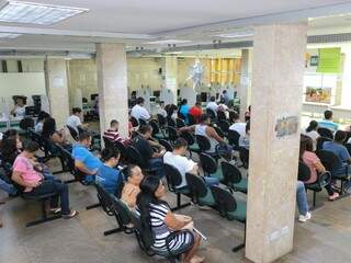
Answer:
[[[238,191],[247,194],[248,180],[242,178],[240,170],[226,161],[223,161],[220,167],[224,176],[223,183],[231,191]]]

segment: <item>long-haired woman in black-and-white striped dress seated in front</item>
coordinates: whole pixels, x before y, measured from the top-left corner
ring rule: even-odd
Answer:
[[[201,237],[193,229],[190,217],[174,215],[169,205],[161,198],[165,196],[165,186],[156,176],[146,176],[140,183],[141,192],[137,196],[137,209],[140,214],[141,228],[154,237],[152,249],[159,252],[168,252],[166,239],[173,231],[189,229],[174,236],[170,242],[170,251],[189,249],[183,258],[184,263],[200,263],[204,258],[196,255]],[[193,241],[194,240],[194,241]]]

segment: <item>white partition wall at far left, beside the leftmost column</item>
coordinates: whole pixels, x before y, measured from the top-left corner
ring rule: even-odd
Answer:
[[[32,95],[46,95],[44,72],[0,73],[0,111],[4,103],[13,107],[13,95],[25,95],[27,105],[33,105]]]

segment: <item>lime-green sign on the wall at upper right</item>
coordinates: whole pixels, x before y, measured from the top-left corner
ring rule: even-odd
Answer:
[[[339,73],[340,72],[340,47],[320,48],[317,72]]]

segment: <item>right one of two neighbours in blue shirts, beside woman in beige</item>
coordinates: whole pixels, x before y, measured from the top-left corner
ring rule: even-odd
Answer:
[[[101,159],[104,162],[98,170],[97,183],[110,194],[116,195],[118,186],[123,183],[123,174],[116,169],[120,160],[117,149],[103,149]]]

